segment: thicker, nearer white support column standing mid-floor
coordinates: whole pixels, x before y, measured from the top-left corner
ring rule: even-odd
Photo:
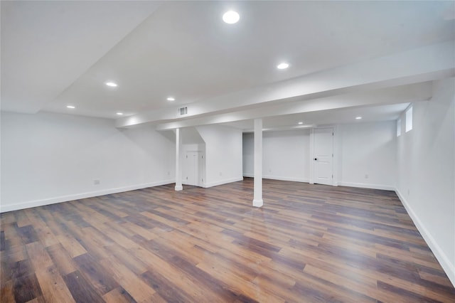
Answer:
[[[262,119],[255,119],[255,196],[253,206],[261,207],[262,201]]]

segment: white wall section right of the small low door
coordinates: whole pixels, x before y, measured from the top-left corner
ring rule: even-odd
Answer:
[[[219,125],[196,129],[205,142],[205,187],[241,181],[242,130]]]

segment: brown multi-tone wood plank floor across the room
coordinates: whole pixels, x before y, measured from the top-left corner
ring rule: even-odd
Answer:
[[[1,302],[455,302],[392,191],[252,179],[1,214]]]

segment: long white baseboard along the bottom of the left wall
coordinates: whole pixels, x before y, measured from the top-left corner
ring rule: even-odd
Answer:
[[[73,201],[73,200],[78,200],[78,199],[83,199],[83,198],[104,196],[104,195],[109,195],[111,193],[122,193],[124,191],[134,191],[136,189],[166,185],[166,184],[171,184],[174,182],[175,182],[175,180],[173,180],[173,179],[164,180],[164,181],[158,181],[158,182],[152,182],[152,183],[146,183],[146,184],[137,184],[137,185],[132,185],[132,186],[103,189],[102,191],[90,191],[87,193],[77,193],[77,194],[68,195],[68,196],[59,196],[59,197],[54,197],[54,198],[42,199],[42,200],[26,201],[26,202],[15,203],[15,204],[6,204],[6,205],[0,206],[0,213],[6,213],[7,211],[18,211],[19,209],[24,209],[24,208],[31,208],[31,207],[45,206],[45,205],[50,205],[50,204],[55,204],[55,203],[68,202],[68,201]]]

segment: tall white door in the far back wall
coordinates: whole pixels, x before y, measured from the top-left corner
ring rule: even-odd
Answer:
[[[333,184],[333,128],[314,129],[314,183]]]

